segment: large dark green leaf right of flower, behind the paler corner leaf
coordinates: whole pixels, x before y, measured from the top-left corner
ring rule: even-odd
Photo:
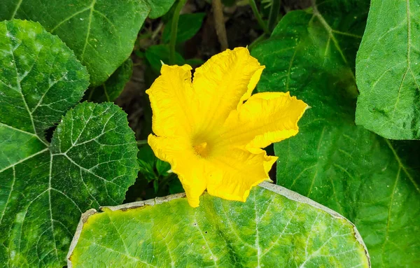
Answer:
[[[277,183],[353,221],[372,265],[416,267],[420,143],[391,143],[354,124],[352,70],[367,7],[335,1],[340,11],[328,3],[312,14],[288,13],[252,52],[267,67],[258,90],[290,91],[311,106],[300,133],[274,146]]]

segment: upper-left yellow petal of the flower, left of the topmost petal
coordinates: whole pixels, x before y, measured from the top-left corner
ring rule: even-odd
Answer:
[[[153,132],[158,136],[186,136],[195,125],[195,94],[191,66],[163,65],[161,75],[146,93],[153,110]]]

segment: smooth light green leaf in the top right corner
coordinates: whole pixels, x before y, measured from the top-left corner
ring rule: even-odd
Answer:
[[[372,0],[358,51],[356,123],[387,139],[420,139],[419,13],[414,1]]]

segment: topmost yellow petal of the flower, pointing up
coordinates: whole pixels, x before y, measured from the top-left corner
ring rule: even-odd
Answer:
[[[197,68],[193,87],[201,101],[202,126],[221,127],[230,111],[251,96],[264,68],[247,48],[225,50]]]

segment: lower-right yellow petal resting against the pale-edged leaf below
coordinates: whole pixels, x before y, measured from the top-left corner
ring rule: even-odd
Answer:
[[[263,150],[253,154],[240,148],[225,148],[209,159],[215,171],[207,182],[207,191],[216,197],[245,202],[253,186],[269,180],[268,171],[276,160]]]

